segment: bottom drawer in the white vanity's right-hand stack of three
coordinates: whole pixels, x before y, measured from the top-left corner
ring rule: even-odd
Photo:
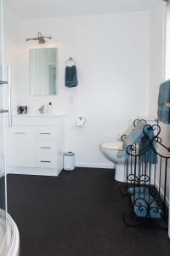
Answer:
[[[37,156],[37,167],[56,168],[57,157],[55,155],[42,154]]]

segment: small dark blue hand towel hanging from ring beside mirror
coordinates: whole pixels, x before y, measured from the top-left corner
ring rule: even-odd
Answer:
[[[77,67],[65,67],[65,86],[76,87],[77,84]]]

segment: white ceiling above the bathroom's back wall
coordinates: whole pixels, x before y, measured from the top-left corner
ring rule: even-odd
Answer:
[[[20,19],[150,10],[153,0],[3,0]]]

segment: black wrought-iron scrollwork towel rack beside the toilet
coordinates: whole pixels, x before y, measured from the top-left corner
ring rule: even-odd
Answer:
[[[151,219],[156,226],[167,229],[167,167],[170,165],[170,147],[162,143],[161,127],[150,125],[144,119],[135,119],[134,127],[144,122],[143,134],[146,138],[145,147],[140,148],[139,142],[128,145],[126,176],[127,183],[120,187],[122,195],[130,195],[133,214],[123,213],[122,219],[128,226],[136,226]],[[154,131],[150,137],[148,131]],[[127,135],[122,135],[125,142]],[[156,154],[157,161],[151,162],[151,154]],[[148,161],[144,159],[148,156]],[[133,191],[133,193],[130,193]]]

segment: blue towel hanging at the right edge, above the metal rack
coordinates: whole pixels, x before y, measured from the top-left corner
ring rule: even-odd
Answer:
[[[159,89],[157,116],[159,121],[170,124],[170,107],[166,103],[170,102],[170,80],[162,83]]]

